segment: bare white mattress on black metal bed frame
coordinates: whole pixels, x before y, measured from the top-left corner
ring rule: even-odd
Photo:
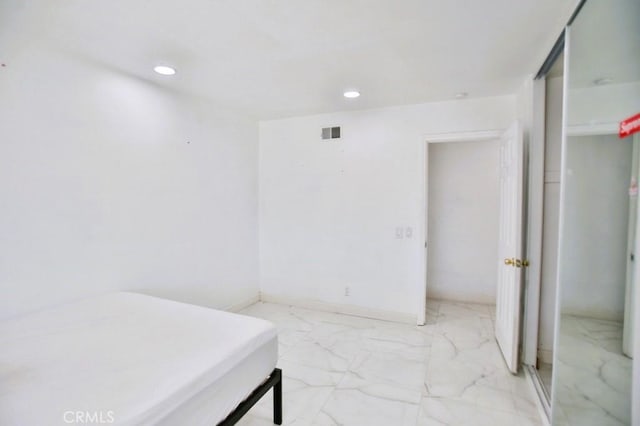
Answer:
[[[211,426],[276,361],[267,321],[135,293],[88,299],[0,323],[0,424]]]

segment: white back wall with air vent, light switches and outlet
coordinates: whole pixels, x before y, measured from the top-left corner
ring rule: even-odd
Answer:
[[[503,129],[515,109],[504,96],[261,122],[261,291],[415,318],[425,135]],[[335,125],[343,138],[322,141]]]

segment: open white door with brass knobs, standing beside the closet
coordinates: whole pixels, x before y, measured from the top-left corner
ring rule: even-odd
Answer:
[[[500,230],[496,340],[507,367],[518,372],[522,294],[522,130],[516,122],[500,140]]]

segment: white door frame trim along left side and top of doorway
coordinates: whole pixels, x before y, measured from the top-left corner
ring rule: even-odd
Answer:
[[[424,249],[422,255],[422,274],[419,283],[421,291],[420,301],[418,302],[417,323],[418,325],[426,324],[427,310],[427,259],[429,254],[428,244],[428,223],[429,223],[429,144],[432,143],[455,143],[455,142],[483,142],[499,139],[504,130],[477,130],[472,132],[452,132],[452,133],[432,133],[422,136],[420,141],[420,150],[422,158],[422,223],[420,224],[420,236],[422,237],[422,247]]]

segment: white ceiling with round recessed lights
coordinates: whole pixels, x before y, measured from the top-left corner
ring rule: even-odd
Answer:
[[[576,3],[3,0],[0,54],[47,43],[269,119],[514,93]],[[178,73],[155,75],[160,62]]]

